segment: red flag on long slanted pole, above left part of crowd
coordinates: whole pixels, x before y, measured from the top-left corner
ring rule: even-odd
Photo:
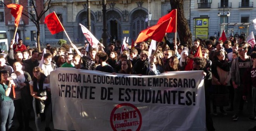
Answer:
[[[45,24],[47,24],[52,35],[64,31],[64,27],[55,12],[52,12],[45,17]]]

